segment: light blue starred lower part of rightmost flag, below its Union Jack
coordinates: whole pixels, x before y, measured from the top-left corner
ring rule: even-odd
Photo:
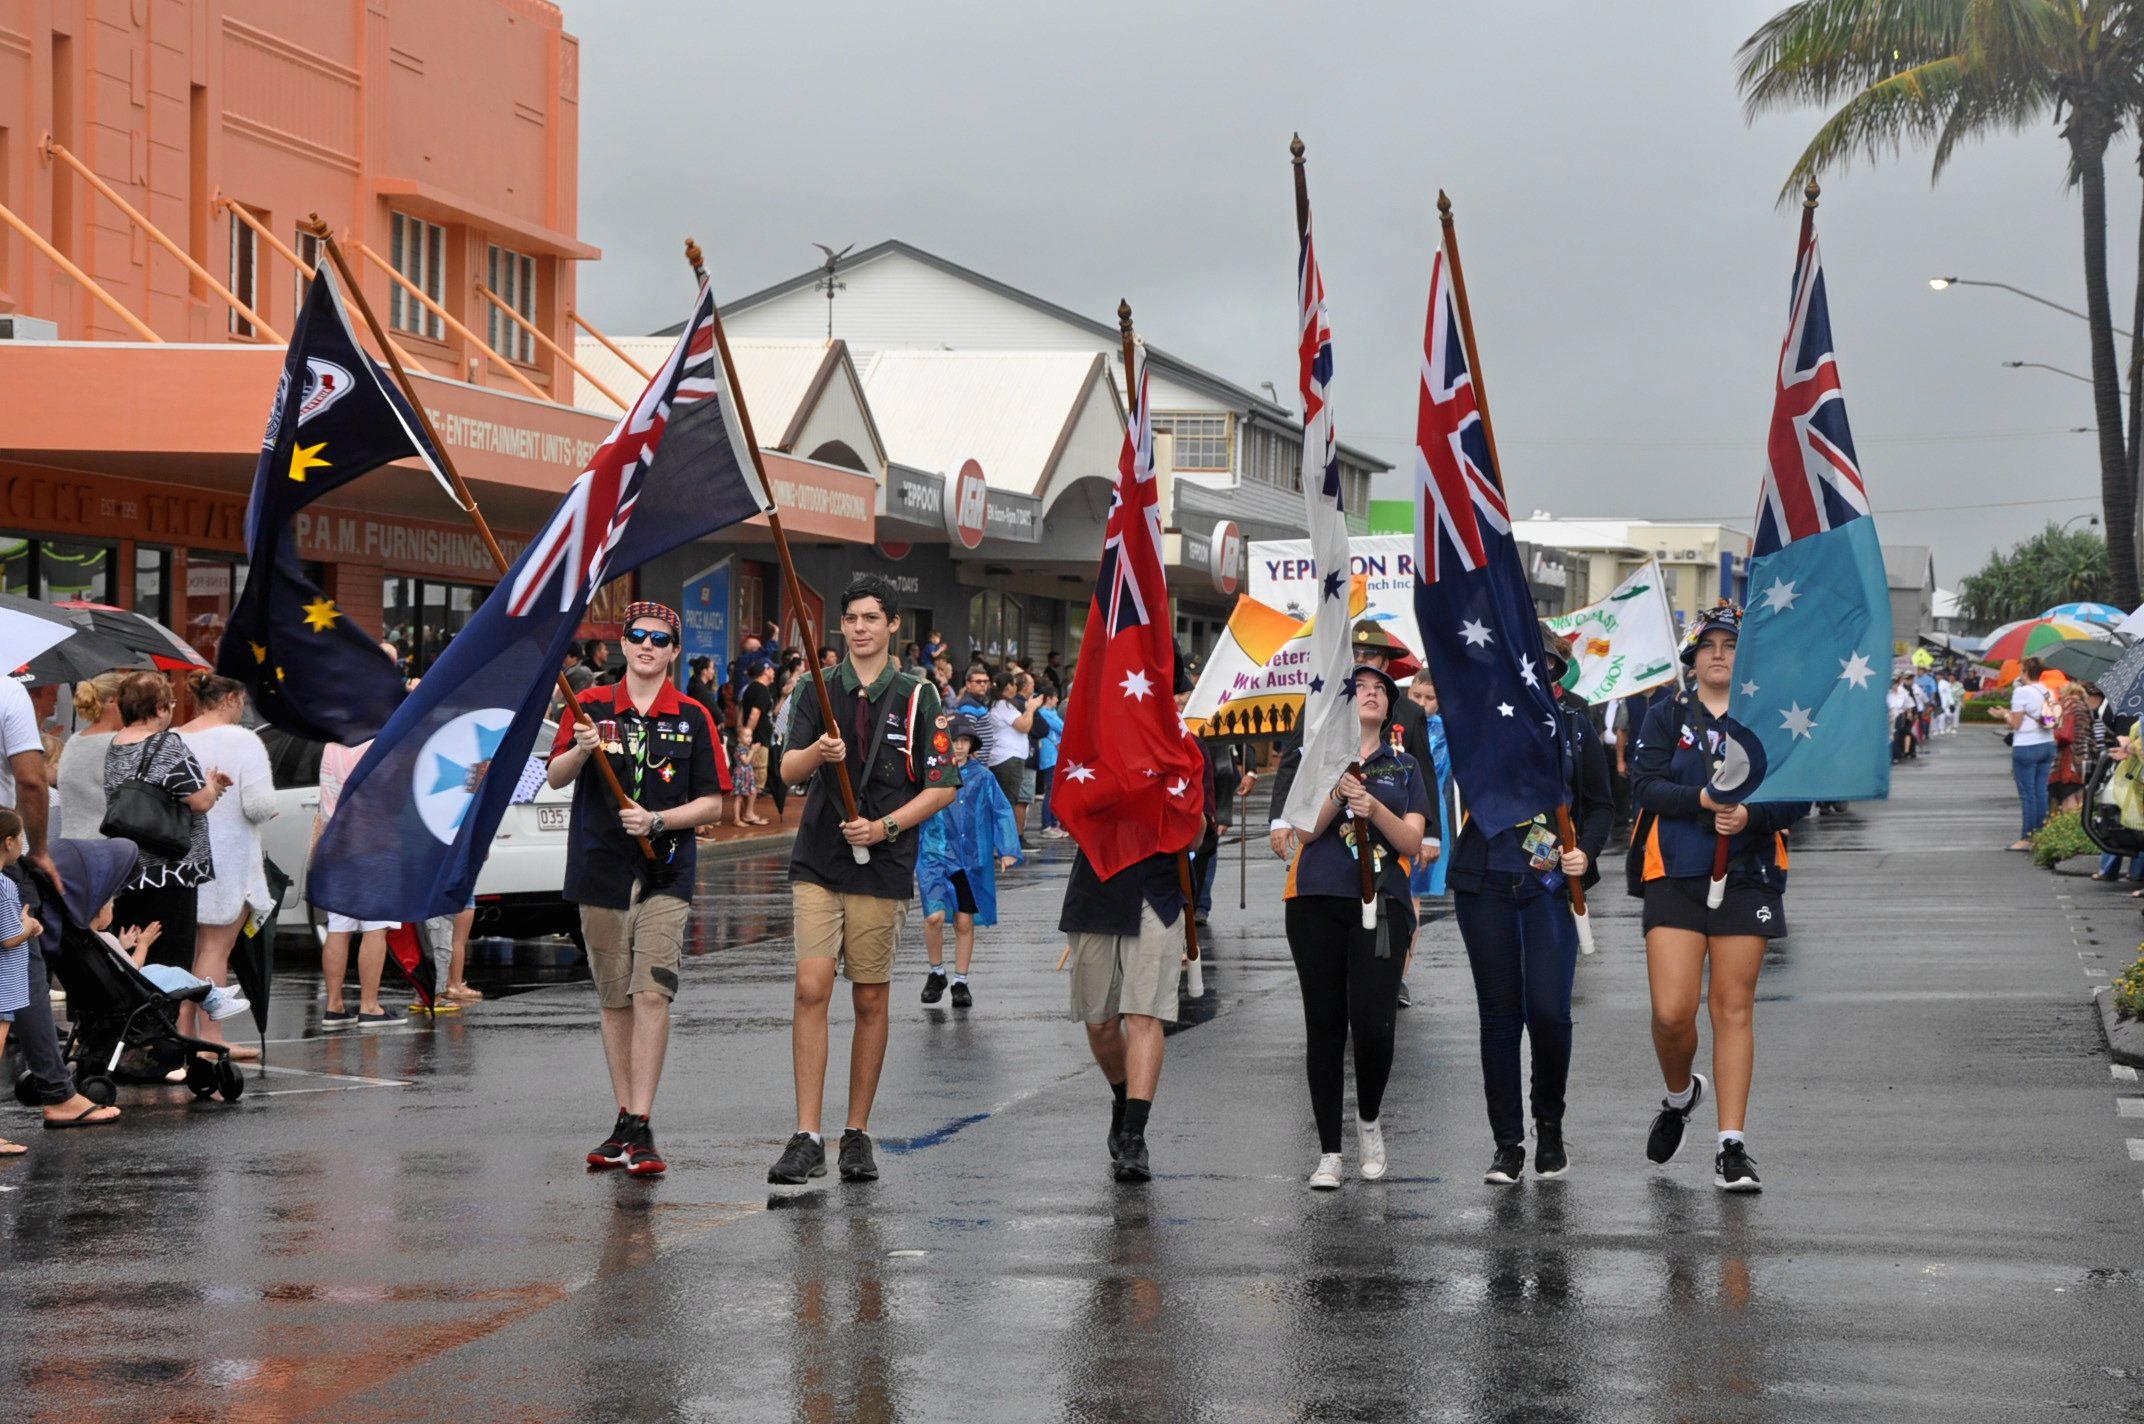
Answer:
[[[1891,590],[1874,519],[1750,560],[1728,716],[1765,742],[1750,800],[1891,793]]]

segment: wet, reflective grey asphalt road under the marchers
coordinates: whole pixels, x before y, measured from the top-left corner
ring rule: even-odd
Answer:
[[[2013,826],[2002,748],[1968,731],[1891,804],[1797,839],[1795,935],[1758,1010],[1754,1199],[1717,1195],[1704,1152],[1642,1158],[1659,1083],[1617,864],[1578,971],[1574,1173],[1516,1190],[1479,1182],[1449,920],[1400,1021],[1391,1180],[1304,1188],[1301,1023],[1263,854],[1250,911],[1226,864],[1145,1188],[1108,1180],[1108,1100],[1051,971],[1051,862],[1008,877],[973,1012],[915,1004],[905,941],[885,1177],[862,1188],[763,1184],[791,1126],[776,858],[703,871],[662,1182],[579,1165],[611,1117],[583,984],[322,1038],[294,971],[242,1102],[124,1089],[118,1130],[0,1126],[32,1145],[0,1165],[0,1415],[2138,1418],[2144,1124],[2125,1102],[2144,1098],[2110,1074],[2086,989],[2140,918],[1996,849]],[[830,1122],[845,1025],[836,1008]]]

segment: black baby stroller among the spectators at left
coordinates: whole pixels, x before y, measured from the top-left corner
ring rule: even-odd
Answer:
[[[118,1096],[118,1079],[161,1083],[163,1074],[184,1064],[195,1098],[238,1102],[247,1079],[232,1051],[178,1032],[178,1006],[206,999],[208,987],[165,993],[90,929],[105,901],[126,884],[137,856],[133,841],[51,845],[66,892],[54,896],[43,886],[39,918],[45,924],[45,965],[66,989],[66,1062],[75,1068],[75,1087],[90,1102],[105,1104]],[[36,1100],[28,1074],[15,1083],[15,1096]]]

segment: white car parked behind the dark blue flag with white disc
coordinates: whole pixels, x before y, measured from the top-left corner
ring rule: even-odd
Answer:
[[[309,918],[324,920],[304,901],[304,871],[313,841],[313,813],[319,809],[319,742],[296,738],[277,727],[262,727],[268,759],[274,768],[277,815],[262,828],[262,847],[292,877],[283,892],[285,929],[298,929]],[[545,723],[536,746],[549,751],[557,723]],[[536,800],[512,804],[491,854],[476,873],[476,933],[530,939],[536,935],[577,935],[579,914],[564,901],[566,826],[572,819],[572,787],[542,785]]]

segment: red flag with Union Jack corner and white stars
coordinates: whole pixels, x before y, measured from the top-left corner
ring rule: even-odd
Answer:
[[[1051,809],[1102,879],[1147,856],[1190,849],[1205,832],[1205,751],[1175,703],[1145,362],[1126,380],[1132,422],[1051,781]]]

